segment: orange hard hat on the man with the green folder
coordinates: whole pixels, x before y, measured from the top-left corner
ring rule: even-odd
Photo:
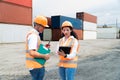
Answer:
[[[40,24],[44,27],[49,27],[47,24],[48,24],[48,21],[47,21],[47,18],[44,17],[44,16],[37,16],[35,19],[34,19],[34,22],[37,23],[37,24]]]

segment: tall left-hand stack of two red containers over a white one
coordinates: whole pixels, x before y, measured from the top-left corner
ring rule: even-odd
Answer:
[[[32,25],[32,0],[0,1],[0,43],[24,42]]]

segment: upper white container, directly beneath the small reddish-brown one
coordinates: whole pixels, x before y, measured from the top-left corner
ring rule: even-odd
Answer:
[[[97,30],[97,24],[84,21],[83,22],[83,30],[96,31]]]

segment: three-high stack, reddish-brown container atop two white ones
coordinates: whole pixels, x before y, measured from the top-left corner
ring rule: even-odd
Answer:
[[[85,12],[76,13],[76,18],[83,21],[83,40],[97,38],[97,17]]]

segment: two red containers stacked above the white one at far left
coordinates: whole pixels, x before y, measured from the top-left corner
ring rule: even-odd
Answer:
[[[0,1],[0,22],[7,24],[32,25],[32,1]]]

